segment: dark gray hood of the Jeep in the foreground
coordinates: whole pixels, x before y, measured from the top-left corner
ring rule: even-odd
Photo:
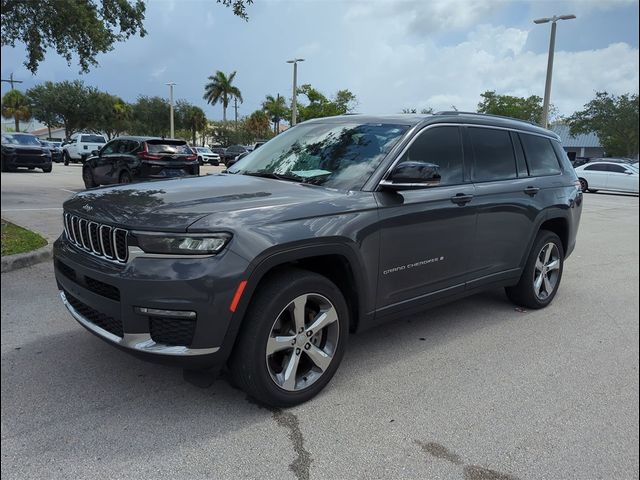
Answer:
[[[265,209],[282,211],[313,203],[316,208],[311,210],[317,210],[321,204],[337,206],[342,203],[338,199],[349,195],[294,182],[217,174],[88,190],[67,200],[64,210],[128,229],[184,232],[209,215],[224,219],[244,211],[259,220],[267,218],[259,213]]]

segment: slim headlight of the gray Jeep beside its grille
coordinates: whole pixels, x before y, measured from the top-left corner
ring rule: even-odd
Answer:
[[[177,255],[212,255],[220,252],[231,240],[229,233],[149,235],[136,233],[138,246],[146,253]]]

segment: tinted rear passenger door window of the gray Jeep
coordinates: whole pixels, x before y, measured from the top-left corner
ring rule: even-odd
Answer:
[[[516,159],[506,130],[469,128],[475,158],[473,180],[490,182],[516,178]]]

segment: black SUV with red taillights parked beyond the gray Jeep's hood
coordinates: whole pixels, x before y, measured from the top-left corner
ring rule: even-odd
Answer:
[[[118,137],[92,152],[82,167],[82,180],[93,188],[199,173],[198,157],[184,140]]]

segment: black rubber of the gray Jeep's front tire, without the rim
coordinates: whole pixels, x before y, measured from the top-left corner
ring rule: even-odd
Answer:
[[[322,377],[304,390],[289,392],[278,387],[271,378],[266,362],[267,340],[271,328],[282,310],[299,295],[310,293],[326,297],[336,309],[339,319],[338,345],[331,365]],[[278,406],[297,405],[316,396],[335,374],[346,349],[349,335],[349,309],[340,290],[324,277],[312,274],[291,282],[280,292],[271,295],[268,301],[256,304],[256,307],[261,312],[254,308],[250,308],[247,312],[249,315],[247,319],[255,322],[253,332],[247,331],[245,333],[255,335],[254,341],[251,342],[250,352],[247,353],[249,354],[251,371],[256,374],[256,378],[253,380],[256,382],[256,390],[260,392],[260,396],[270,399],[270,404]]]

